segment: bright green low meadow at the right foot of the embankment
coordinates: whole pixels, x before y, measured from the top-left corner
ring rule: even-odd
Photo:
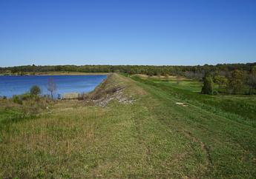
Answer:
[[[141,78],[133,77],[137,81]],[[183,80],[180,84],[176,81],[162,81],[157,78],[150,78],[144,83],[169,92],[171,95],[190,103],[197,103],[197,106],[211,108],[213,112],[228,112],[232,118],[243,118],[246,121],[256,120],[256,96],[255,95],[202,95],[200,90],[202,84],[199,81]],[[238,115],[238,116],[234,116]]]

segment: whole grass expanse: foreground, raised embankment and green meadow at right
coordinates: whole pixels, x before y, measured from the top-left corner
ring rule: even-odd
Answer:
[[[59,101],[35,115],[1,102],[0,178],[255,178],[255,96],[116,74],[94,93],[111,86],[133,103]]]

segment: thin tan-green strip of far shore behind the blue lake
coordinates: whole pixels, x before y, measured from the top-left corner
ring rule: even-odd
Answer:
[[[24,72],[22,75],[109,75],[110,72]],[[19,73],[0,73],[0,75],[21,75]]]

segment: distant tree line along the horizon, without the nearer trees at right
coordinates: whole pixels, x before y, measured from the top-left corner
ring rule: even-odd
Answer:
[[[20,72],[124,72],[130,75],[188,75],[192,78],[203,78],[205,72],[231,72],[232,70],[251,71],[255,63],[248,64],[217,64],[203,66],[151,66],[151,65],[55,65],[36,66],[27,65],[20,67],[0,67],[0,72],[7,70],[12,73]],[[202,75],[203,74],[203,75]]]

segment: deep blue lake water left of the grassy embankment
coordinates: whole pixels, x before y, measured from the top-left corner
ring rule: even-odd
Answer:
[[[56,84],[54,96],[68,92],[90,92],[106,77],[107,75],[0,75],[0,96],[10,98],[20,95],[29,92],[33,85],[41,88],[42,95],[50,95],[47,91],[47,81],[50,78]]]

